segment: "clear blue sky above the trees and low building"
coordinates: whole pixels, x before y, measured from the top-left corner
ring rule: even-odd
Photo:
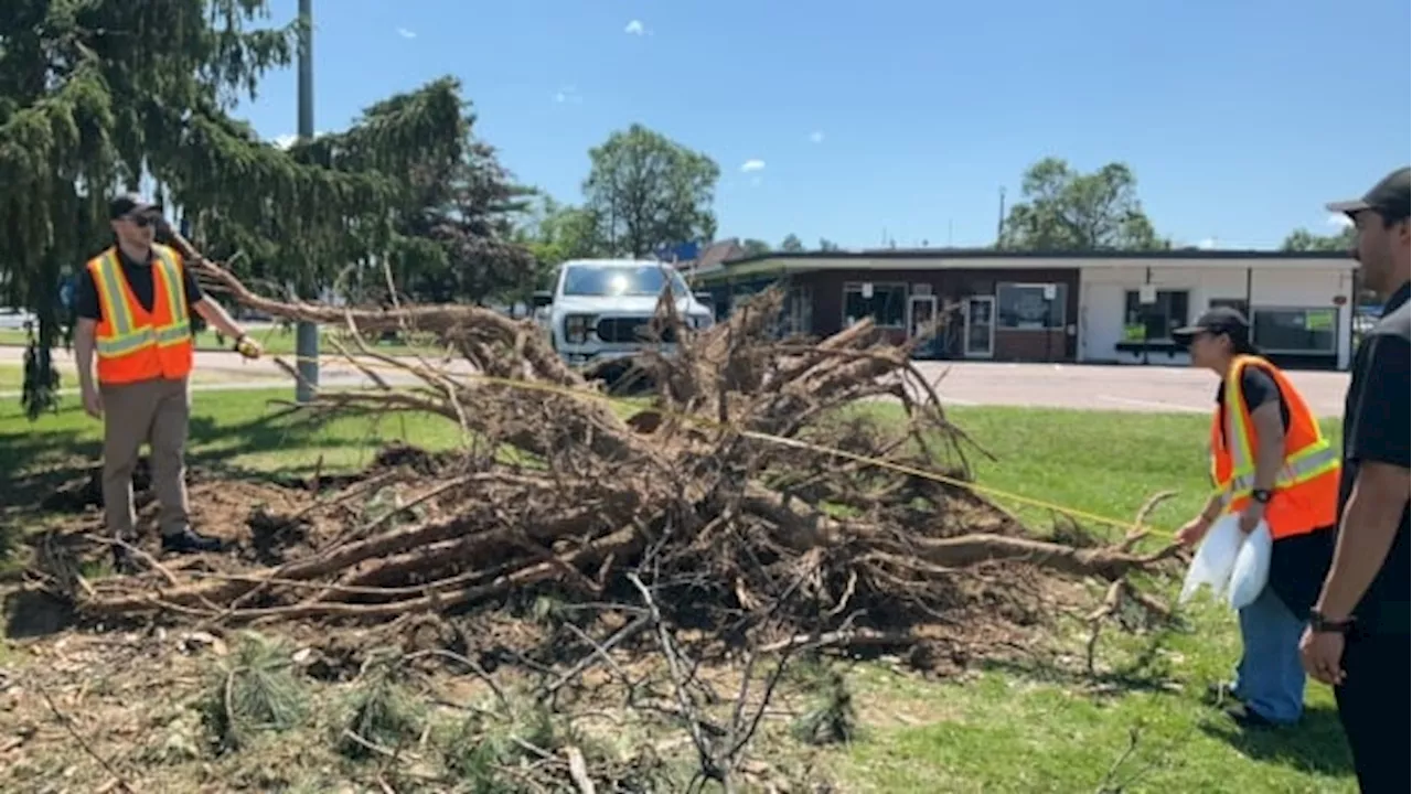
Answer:
[[[297,0],[273,0],[275,21]],[[1340,10],[1344,8],[1344,10]],[[722,167],[720,236],[988,244],[1045,155],[1121,160],[1158,230],[1274,247],[1412,162],[1408,0],[315,0],[315,124],[456,75],[477,133],[578,201],[644,123]],[[297,127],[292,69],[241,107]],[[747,164],[750,164],[747,167]],[[758,167],[757,170],[750,170]]]

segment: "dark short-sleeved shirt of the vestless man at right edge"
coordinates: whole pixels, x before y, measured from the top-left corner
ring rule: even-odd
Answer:
[[[1364,461],[1412,469],[1412,283],[1405,284],[1382,311],[1382,319],[1358,345],[1353,380],[1343,405],[1343,479],[1339,516],[1343,516]],[[1370,632],[1412,633],[1412,510],[1402,509],[1402,523],[1392,548],[1354,608],[1360,626]]]

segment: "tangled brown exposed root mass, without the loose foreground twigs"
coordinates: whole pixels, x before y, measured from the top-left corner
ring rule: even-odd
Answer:
[[[655,396],[620,415],[528,322],[476,307],[281,302],[202,267],[250,308],[345,326],[356,348],[350,357],[366,372],[395,370],[417,383],[394,387],[378,377],[376,389],[321,396],[325,405],[429,411],[459,427],[466,448],[401,479],[414,483],[418,520],[383,516],[277,567],[78,578],[83,586],[51,571],[47,581],[71,583],[64,589],[80,615],[380,622],[465,609],[545,582],[631,600],[626,576],[650,558],[668,619],[727,626],[741,613],[788,609],[772,640],[786,647],[794,632],[822,637],[847,626],[897,636],[966,610],[976,582],[997,565],[1096,578],[1113,583],[1111,602],[1137,598],[1125,576],[1176,551],[1138,551],[1141,533],[1113,547],[1025,537],[1012,516],[964,487],[967,451],[984,452],[947,421],[908,346],[881,342],[870,322],[818,343],[775,339],[777,291],[699,333],[664,297],[654,332],[681,343],[637,357]],[[435,333],[476,374],[361,343],[385,329]],[[867,408],[878,400],[898,405],[901,422]],[[902,475],[858,458],[946,476]],[[781,606],[785,588],[795,588],[789,606]]]

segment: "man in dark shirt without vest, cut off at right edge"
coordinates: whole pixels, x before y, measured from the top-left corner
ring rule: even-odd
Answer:
[[[1358,232],[1364,284],[1387,304],[1358,345],[1344,403],[1333,567],[1300,640],[1334,687],[1364,793],[1408,791],[1412,711],[1412,168],[1329,205]]]

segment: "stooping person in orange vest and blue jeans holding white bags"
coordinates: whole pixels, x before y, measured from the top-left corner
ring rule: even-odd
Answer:
[[[1305,702],[1299,639],[1333,559],[1339,451],[1285,373],[1261,357],[1241,312],[1211,308],[1172,338],[1193,366],[1221,376],[1210,431],[1216,492],[1178,540],[1196,545],[1224,514],[1240,516],[1245,534],[1264,521],[1274,540],[1269,581],[1240,610],[1236,680],[1213,695],[1236,701],[1227,713],[1244,728],[1291,725]]]

